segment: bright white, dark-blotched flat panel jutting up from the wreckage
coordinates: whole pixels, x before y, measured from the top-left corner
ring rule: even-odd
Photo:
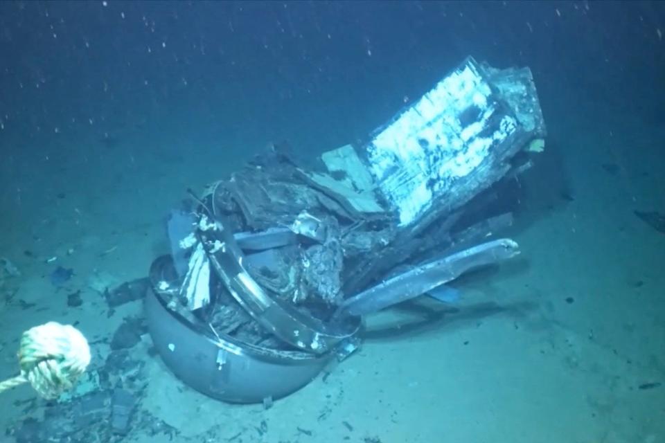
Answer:
[[[469,58],[373,137],[370,172],[407,226],[519,129]]]

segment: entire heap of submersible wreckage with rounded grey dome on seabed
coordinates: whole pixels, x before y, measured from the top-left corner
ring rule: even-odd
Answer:
[[[269,404],[362,339],[362,318],[516,255],[515,177],[544,147],[528,68],[464,60],[366,141],[280,146],[168,221],[145,314],[161,359],[223,401]]]

